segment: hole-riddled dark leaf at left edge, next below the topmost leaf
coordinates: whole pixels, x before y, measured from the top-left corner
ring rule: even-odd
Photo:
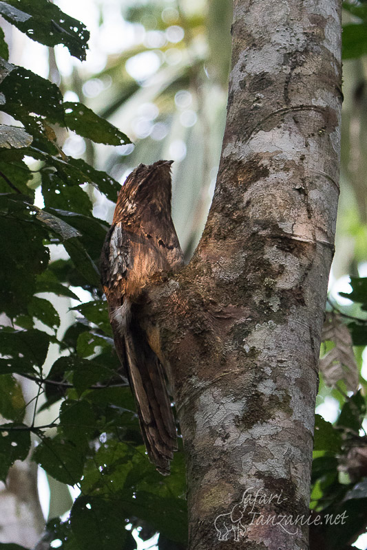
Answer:
[[[22,115],[28,118],[29,113],[36,113],[64,126],[63,96],[59,88],[28,69],[8,65],[11,70],[0,84],[0,92],[6,99],[1,110],[16,120],[21,120]]]

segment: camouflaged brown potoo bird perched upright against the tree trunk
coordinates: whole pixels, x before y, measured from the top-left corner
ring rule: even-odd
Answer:
[[[142,321],[142,306],[152,278],[184,264],[171,218],[173,162],[139,164],[127,177],[100,263],[116,352],[134,394],[149,460],[164,475],[177,450],[177,430],[165,360]]]

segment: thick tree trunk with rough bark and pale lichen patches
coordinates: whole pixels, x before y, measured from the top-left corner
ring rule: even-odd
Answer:
[[[185,445],[189,549],[237,537],[247,549],[308,547],[308,527],[281,518],[308,517],[339,194],[340,12],[339,0],[234,1],[205,232],[147,305]]]

